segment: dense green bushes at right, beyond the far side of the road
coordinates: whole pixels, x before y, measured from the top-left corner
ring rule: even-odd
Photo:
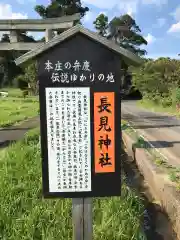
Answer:
[[[132,68],[133,85],[143,95],[142,104],[180,111],[180,61],[170,58],[148,60]],[[147,103],[148,102],[148,103]]]

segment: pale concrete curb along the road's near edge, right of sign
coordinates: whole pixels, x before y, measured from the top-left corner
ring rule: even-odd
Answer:
[[[134,140],[125,132],[122,132],[122,140],[127,153],[133,157],[141,174],[146,181],[152,196],[161,203],[162,208],[168,214],[174,231],[180,240],[180,196],[174,186],[163,178],[160,167],[153,163],[153,157],[144,149],[133,149]]]

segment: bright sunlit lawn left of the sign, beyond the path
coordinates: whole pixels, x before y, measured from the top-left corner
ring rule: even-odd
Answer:
[[[2,89],[7,91],[7,89]],[[8,127],[38,115],[37,97],[22,98],[19,89],[10,89],[9,96],[0,98],[0,127]]]

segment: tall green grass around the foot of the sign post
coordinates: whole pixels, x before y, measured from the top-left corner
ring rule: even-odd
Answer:
[[[42,198],[39,129],[0,154],[0,239],[72,239],[71,200]],[[122,196],[94,201],[94,240],[143,240],[141,199],[123,182]]]

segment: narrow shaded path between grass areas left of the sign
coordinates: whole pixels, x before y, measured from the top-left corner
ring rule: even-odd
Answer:
[[[28,119],[20,125],[0,129],[0,148],[21,140],[26,132],[39,126],[39,116]]]

